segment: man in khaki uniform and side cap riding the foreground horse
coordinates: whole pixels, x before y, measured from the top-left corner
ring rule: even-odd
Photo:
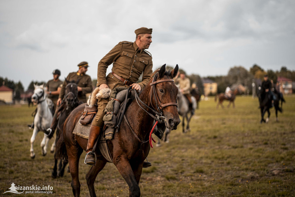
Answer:
[[[114,89],[117,87],[130,87],[141,91],[150,81],[153,74],[152,56],[148,51],[152,42],[152,30],[148,28],[139,28],[135,30],[135,42],[119,42],[108,54],[106,54],[98,63],[97,84],[99,90],[104,88]],[[112,72],[106,76],[106,69],[113,63]],[[142,75],[142,82],[136,83]],[[94,165],[94,144],[104,127],[104,109],[109,99],[99,98],[97,105],[98,111],[96,117],[91,123],[89,139],[86,148],[85,163]],[[146,162],[145,167],[150,166]]]

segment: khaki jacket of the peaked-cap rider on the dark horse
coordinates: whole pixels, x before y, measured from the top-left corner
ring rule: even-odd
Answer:
[[[91,81],[91,77],[89,75],[80,75],[78,72],[71,72],[68,76],[67,76],[67,80],[68,81],[77,81],[78,79],[78,86],[82,88],[82,91],[78,92],[78,99],[79,101],[83,101],[84,103],[87,102],[86,96],[85,94],[92,92],[92,81]],[[63,99],[63,97],[65,96],[65,86],[67,85],[67,82],[64,81],[63,82],[63,87],[60,90],[60,94],[58,96],[58,98]]]

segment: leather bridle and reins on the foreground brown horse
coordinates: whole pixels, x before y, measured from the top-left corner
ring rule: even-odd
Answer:
[[[153,115],[153,114],[151,114],[151,113],[149,113],[148,111],[146,111],[145,109],[143,109],[146,113],[148,113],[151,117],[153,117],[153,119],[155,119],[156,121],[158,121],[159,123],[163,123],[164,121],[165,121],[165,118],[163,117],[163,108],[164,107],[167,107],[167,106],[169,106],[169,105],[176,105],[176,107],[178,106],[177,105],[177,103],[174,103],[174,102],[171,102],[171,103],[166,103],[166,104],[163,104],[161,101],[160,101],[160,99],[159,99],[159,97],[158,97],[158,94],[157,94],[157,92],[156,92],[156,90],[155,90],[155,84],[157,84],[157,83],[163,83],[163,82],[169,82],[169,81],[173,81],[174,82],[174,80],[173,79],[162,79],[162,80],[156,80],[157,79],[157,77],[158,77],[158,73],[156,73],[155,74],[155,76],[153,77],[153,80],[152,80],[152,83],[150,83],[150,85],[151,85],[151,90],[150,90],[150,93],[149,93],[149,103],[151,104],[151,106],[152,106],[152,108],[150,108],[148,105],[146,105],[145,103],[143,103],[140,99],[139,99],[139,97],[138,97],[138,95],[137,95],[137,93],[135,92],[135,99],[136,99],[136,101],[137,101],[137,104],[142,108],[142,106],[139,104],[139,102],[138,101],[140,101],[140,103],[141,104],[143,104],[145,107],[147,107],[148,109],[150,109],[154,114],[155,114],[155,116]],[[154,96],[154,98],[155,98],[155,105],[156,105],[156,108],[153,106],[153,103],[152,103],[152,98],[153,98],[153,96]]]

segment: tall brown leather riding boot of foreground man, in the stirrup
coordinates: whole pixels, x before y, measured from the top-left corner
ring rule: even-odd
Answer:
[[[93,157],[94,154],[90,154],[89,152],[90,151],[92,152],[93,146],[94,146],[96,139],[98,138],[101,130],[102,130],[102,127],[98,127],[95,125],[91,125],[91,127],[90,127],[90,133],[89,133],[89,138],[88,138],[88,143],[87,143],[87,148],[86,148],[86,158],[85,158],[86,164],[95,165],[95,160]]]

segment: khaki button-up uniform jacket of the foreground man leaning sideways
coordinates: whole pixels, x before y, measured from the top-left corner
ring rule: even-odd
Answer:
[[[106,69],[113,63],[112,71],[125,80],[136,83],[140,75],[142,82],[138,83],[143,89],[149,82],[153,74],[152,56],[145,50],[138,50],[135,42],[119,42],[108,54],[106,54],[98,63],[97,67],[97,85],[106,83]],[[119,79],[109,73],[115,81]]]

